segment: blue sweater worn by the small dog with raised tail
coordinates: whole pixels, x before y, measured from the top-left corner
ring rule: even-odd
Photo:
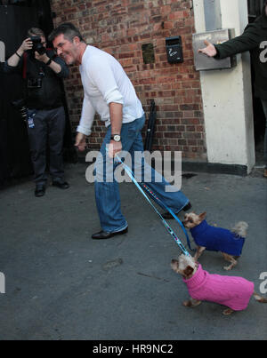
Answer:
[[[211,227],[206,220],[191,228],[190,233],[195,243],[207,251],[222,251],[232,256],[240,256],[245,243],[244,237],[222,227]]]

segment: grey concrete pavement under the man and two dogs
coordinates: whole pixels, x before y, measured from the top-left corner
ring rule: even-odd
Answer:
[[[91,240],[100,227],[85,169],[68,164],[69,189],[50,186],[42,198],[33,195],[30,180],[0,192],[0,339],[267,338],[267,304],[253,298],[231,316],[213,303],[182,306],[188,292],[170,267],[179,248],[134,184],[120,185],[128,234]],[[206,252],[202,266],[242,275],[259,291],[267,272],[267,179],[257,172],[194,174],[182,180],[194,211],[206,211],[219,227],[249,224],[238,267],[226,273],[216,252]]]

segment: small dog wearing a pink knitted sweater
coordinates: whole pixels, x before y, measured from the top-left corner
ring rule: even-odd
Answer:
[[[209,274],[190,256],[173,259],[171,266],[174,272],[182,274],[190,293],[190,299],[184,301],[183,306],[198,306],[205,300],[228,306],[223,314],[231,314],[246,309],[251,296],[258,302],[267,303],[266,298],[255,292],[253,282],[243,277]]]

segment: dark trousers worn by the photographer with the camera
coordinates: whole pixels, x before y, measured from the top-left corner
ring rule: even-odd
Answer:
[[[65,131],[64,107],[54,109],[28,109],[34,126],[28,125],[28,139],[36,184],[45,184],[46,150],[49,149],[49,171],[52,179],[63,179],[63,139]]]

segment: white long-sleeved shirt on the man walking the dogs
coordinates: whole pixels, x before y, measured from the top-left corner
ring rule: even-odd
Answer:
[[[96,112],[108,127],[111,102],[123,105],[123,123],[142,117],[142,103],[133,84],[120,63],[108,52],[87,45],[79,70],[84,86],[84,102],[77,131],[89,135]]]

